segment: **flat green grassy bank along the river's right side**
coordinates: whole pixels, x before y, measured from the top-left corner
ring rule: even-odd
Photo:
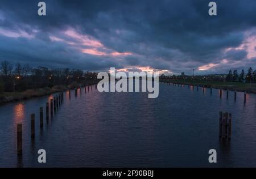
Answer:
[[[176,84],[184,84],[191,86],[200,86],[205,88],[217,88],[222,90],[229,91],[241,91],[247,93],[256,93],[256,83],[242,83],[242,82],[191,82],[191,81],[179,81],[179,80],[164,80],[161,79],[159,82],[164,83],[176,83]]]

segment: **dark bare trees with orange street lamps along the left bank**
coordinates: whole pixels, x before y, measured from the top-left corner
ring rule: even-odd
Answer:
[[[93,84],[96,80],[97,73],[84,72],[79,69],[31,67],[28,63],[16,63],[14,65],[9,61],[2,61],[0,64],[0,92],[85,85]]]

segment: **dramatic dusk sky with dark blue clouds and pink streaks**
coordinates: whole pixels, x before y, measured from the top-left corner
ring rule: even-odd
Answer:
[[[0,61],[88,71],[256,69],[256,1],[0,0]]]

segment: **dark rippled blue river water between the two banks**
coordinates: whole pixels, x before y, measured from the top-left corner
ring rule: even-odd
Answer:
[[[64,104],[44,127],[39,107],[48,97],[0,106],[0,167],[256,167],[256,96],[160,84],[147,93],[100,93],[93,88]],[[45,108],[44,108],[45,110]],[[218,113],[232,113],[230,142],[218,138]],[[30,113],[36,136],[30,138]],[[16,155],[16,123],[23,123],[23,155]],[[38,150],[47,163],[38,163]],[[217,150],[217,164],[208,151]]]

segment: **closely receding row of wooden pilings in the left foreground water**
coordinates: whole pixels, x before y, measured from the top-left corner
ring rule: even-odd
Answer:
[[[49,121],[49,114],[51,117],[53,116],[53,112],[56,113],[60,108],[60,105],[64,102],[64,93],[59,92],[57,95],[50,99],[49,102],[46,103],[46,121]],[[43,107],[39,108],[39,123],[40,129],[43,128],[44,125],[44,114]],[[31,139],[35,138],[35,113],[30,114],[30,131],[31,131]],[[22,123],[17,124],[17,154],[22,155]]]

